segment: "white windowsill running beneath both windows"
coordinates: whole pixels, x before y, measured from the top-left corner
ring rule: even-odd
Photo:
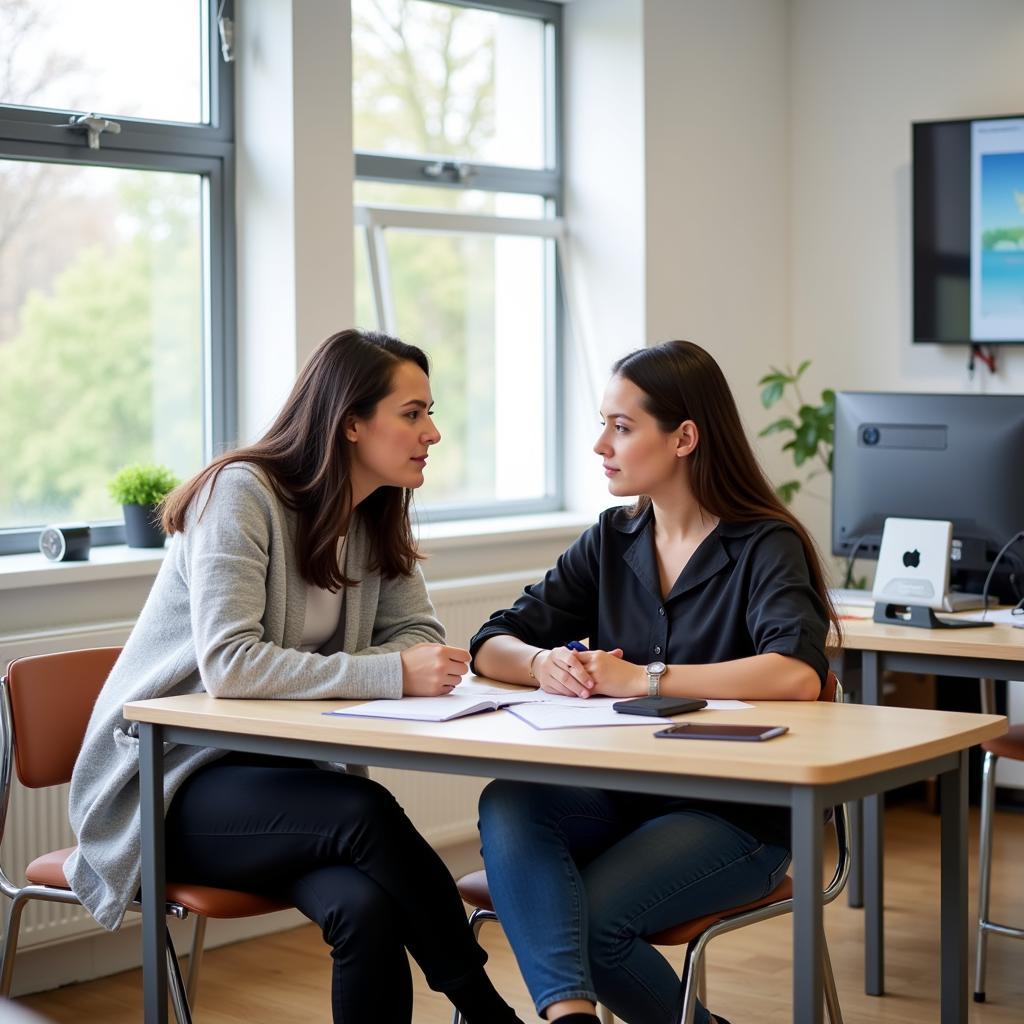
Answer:
[[[563,542],[567,546],[593,522],[578,512],[545,512],[426,523],[419,527],[424,554],[494,549],[536,542]],[[51,562],[38,551],[0,556],[0,591],[54,584],[94,583],[156,577],[166,549],[129,548],[123,544],[93,548],[85,562]],[[481,566],[481,571],[486,571]]]

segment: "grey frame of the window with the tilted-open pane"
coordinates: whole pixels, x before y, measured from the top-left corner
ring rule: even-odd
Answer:
[[[378,324],[382,330],[389,333],[396,330],[390,290],[389,260],[384,240],[384,231],[387,228],[496,237],[514,234],[546,240],[545,310],[548,324],[545,331],[545,413],[548,431],[545,438],[543,498],[424,505],[418,509],[418,515],[423,521],[441,522],[561,510],[565,507],[565,495],[562,484],[564,452],[559,440],[564,435],[562,412],[564,402],[560,398],[567,331],[566,278],[563,270],[565,228],[562,219],[564,204],[562,7],[550,0],[431,0],[431,2],[498,14],[532,17],[544,24],[550,36],[544,72],[547,83],[550,83],[550,87],[545,89],[547,166],[532,169],[477,163],[468,159],[463,161],[455,156],[437,157],[430,154],[393,156],[355,150],[355,180],[462,191],[540,196],[546,201],[552,216],[535,219],[425,210],[415,207],[355,204],[355,226],[362,230]],[[446,169],[449,175],[446,178],[426,173],[426,168],[434,167],[438,163]],[[472,173],[466,180],[463,180],[456,171],[459,166],[471,169]]]

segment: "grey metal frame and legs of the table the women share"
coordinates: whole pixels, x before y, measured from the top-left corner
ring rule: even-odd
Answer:
[[[822,816],[827,807],[870,797],[937,775],[942,795],[941,1022],[966,1024],[968,984],[967,753],[955,751],[844,782],[796,784],[703,778],[672,772],[627,772],[586,766],[510,762],[486,757],[251,736],[180,725],[139,722],[142,845],[142,976],[144,1020],[166,1024],[167,975],[164,863],[164,743],[216,746],[317,761],[457,775],[602,786],[681,797],[788,807],[793,815],[793,1019],[821,1024]],[[873,835],[873,834],[872,834]],[[878,844],[881,858],[881,843]],[[881,859],[879,860],[881,877]],[[872,889],[873,891],[873,889]],[[881,882],[878,884],[881,895]],[[881,915],[880,915],[881,921]],[[866,936],[870,943],[872,937]],[[881,952],[881,950],[879,951]]]

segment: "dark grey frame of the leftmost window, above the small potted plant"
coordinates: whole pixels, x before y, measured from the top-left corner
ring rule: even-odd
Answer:
[[[203,59],[209,82],[207,124],[146,121],[86,109],[0,104],[0,159],[169,171],[201,177],[205,190],[202,252],[208,334],[203,367],[204,460],[233,443],[238,433],[234,66],[221,58],[217,7],[208,0],[202,8],[206,24]],[[233,0],[225,0],[220,15],[233,17]],[[65,127],[70,117],[86,113],[117,121],[122,132],[103,133],[99,148],[90,150],[84,134],[72,133]],[[63,130],[58,134],[55,129]],[[0,555],[38,551],[39,534],[45,525],[0,529]],[[124,544],[123,521],[104,520],[90,525],[93,547]]]

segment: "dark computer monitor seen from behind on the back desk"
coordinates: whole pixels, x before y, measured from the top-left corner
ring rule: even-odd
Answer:
[[[833,554],[878,557],[887,516],[951,520],[954,585],[980,591],[1024,529],[1024,395],[839,392]]]

